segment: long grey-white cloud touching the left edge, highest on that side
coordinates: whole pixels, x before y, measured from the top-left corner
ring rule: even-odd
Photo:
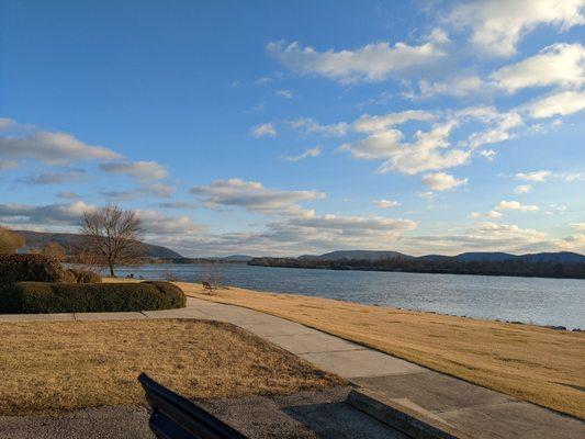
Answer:
[[[111,149],[87,145],[70,134],[41,131],[21,137],[0,136],[0,156],[15,160],[33,159],[47,165],[121,158]]]

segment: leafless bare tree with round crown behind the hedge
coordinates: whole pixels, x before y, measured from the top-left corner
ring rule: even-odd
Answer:
[[[139,239],[143,233],[140,218],[134,211],[108,204],[83,212],[81,234],[87,251],[103,260],[112,278],[116,264],[132,263],[142,256],[144,246]]]

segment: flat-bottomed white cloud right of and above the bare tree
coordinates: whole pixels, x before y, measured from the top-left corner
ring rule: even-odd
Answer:
[[[306,211],[299,206],[300,202],[325,198],[323,192],[279,191],[265,188],[260,182],[237,178],[215,180],[210,185],[193,187],[190,192],[202,196],[204,204],[210,209],[235,206],[267,214],[303,215]]]

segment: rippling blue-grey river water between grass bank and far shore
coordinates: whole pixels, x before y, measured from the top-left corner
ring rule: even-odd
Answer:
[[[585,280],[492,275],[334,271],[214,264],[222,283],[484,319],[585,329]],[[149,264],[117,270],[144,279],[201,282],[204,264]]]

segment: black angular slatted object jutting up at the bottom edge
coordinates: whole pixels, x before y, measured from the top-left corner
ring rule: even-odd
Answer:
[[[160,439],[246,439],[227,424],[155,380],[138,376],[153,409],[148,426]]]

